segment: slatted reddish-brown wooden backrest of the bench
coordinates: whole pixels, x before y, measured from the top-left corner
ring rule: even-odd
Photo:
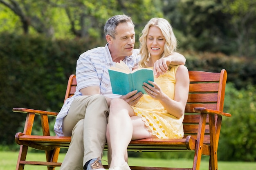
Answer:
[[[195,113],[193,108],[205,107],[208,109],[223,111],[227,72],[225,70],[222,70],[220,73],[189,71],[189,79],[189,97],[186,104],[185,117],[183,121],[184,138],[191,135],[196,139],[200,115],[199,113]],[[70,75],[65,99],[72,97],[75,91],[76,76]],[[204,144],[210,143],[208,124],[209,119],[207,117]]]

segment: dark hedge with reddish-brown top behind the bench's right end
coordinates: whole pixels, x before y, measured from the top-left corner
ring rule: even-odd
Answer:
[[[222,53],[184,52],[189,70],[220,72],[227,70],[227,82],[233,82],[237,89],[256,84],[256,60],[252,58],[228,56]]]

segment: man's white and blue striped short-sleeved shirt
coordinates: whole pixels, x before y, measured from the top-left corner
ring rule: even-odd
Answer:
[[[139,50],[134,49],[132,55],[126,56],[123,62],[132,69],[138,64],[140,59]],[[99,86],[101,95],[105,94],[108,85],[110,85],[108,68],[113,65],[114,62],[110,55],[108,44],[105,47],[88,50],[79,56],[76,62],[76,92],[72,97],[66,99],[54,124],[54,132],[58,136],[64,136],[61,127],[63,118],[67,115],[72,101],[82,95],[80,92],[82,88]]]

